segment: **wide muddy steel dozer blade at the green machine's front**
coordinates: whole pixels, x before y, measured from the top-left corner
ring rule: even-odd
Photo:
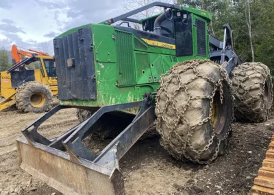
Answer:
[[[19,166],[63,194],[125,194],[123,174],[79,158],[82,164],[70,160],[69,154],[26,139],[16,140]]]

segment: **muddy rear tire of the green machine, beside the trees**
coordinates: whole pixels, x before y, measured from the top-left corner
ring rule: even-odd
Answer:
[[[268,119],[273,102],[269,67],[260,62],[246,62],[232,71],[235,117],[245,122]]]

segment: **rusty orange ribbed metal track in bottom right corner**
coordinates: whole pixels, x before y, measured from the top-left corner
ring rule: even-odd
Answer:
[[[266,151],[266,158],[262,162],[262,168],[259,169],[258,176],[254,179],[251,194],[274,194],[274,135],[271,137],[269,150]]]

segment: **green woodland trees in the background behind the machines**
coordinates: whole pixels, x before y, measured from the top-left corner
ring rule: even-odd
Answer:
[[[145,4],[153,1],[144,0]],[[162,1],[172,3],[172,0]],[[233,28],[234,48],[238,56],[248,62],[254,60],[264,63],[274,75],[273,0],[174,0],[174,3],[210,12],[212,22],[208,25],[208,30],[220,40],[223,38],[223,24],[229,23]],[[123,8],[127,7],[127,4],[122,5]],[[127,10],[132,9],[127,7]],[[51,48],[48,47],[49,44],[52,43],[42,47],[40,45],[40,51],[51,50],[48,53],[53,53],[52,49],[48,49]],[[10,67],[7,52],[3,48],[0,49],[0,71]]]

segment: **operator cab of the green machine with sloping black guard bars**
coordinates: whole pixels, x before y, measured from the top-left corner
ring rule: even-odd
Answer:
[[[153,7],[164,8],[164,13],[142,20],[130,18],[134,14]],[[160,47],[166,46],[168,49],[175,49],[177,57],[186,56],[186,58],[181,59],[183,61],[190,59],[190,56],[201,59],[209,58],[207,25],[211,19],[212,16],[203,10],[153,2],[142,8],[103,21],[101,24],[111,25],[118,21],[126,22],[128,27],[121,26],[121,23],[114,28],[132,32],[148,45],[159,47],[158,44],[160,44]],[[129,22],[141,24],[142,31],[129,27]]]

